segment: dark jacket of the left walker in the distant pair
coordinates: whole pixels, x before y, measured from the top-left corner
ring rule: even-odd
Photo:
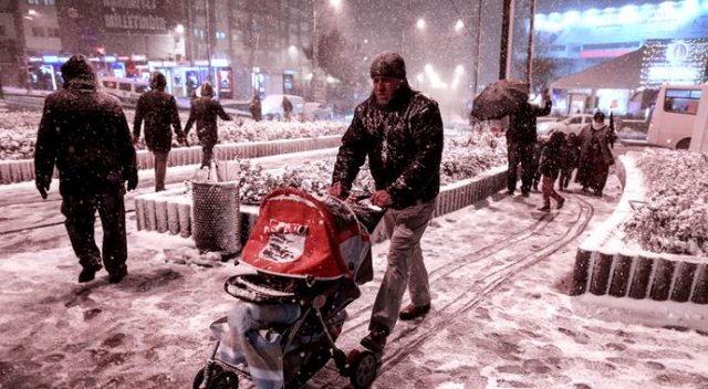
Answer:
[[[169,93],[153,90],[138,98],[135,122],[133,122],[133,136],[136,138],[140,136],[143,120],[145,120],[145,144],[150,151],[166,153],[171,149],[170,125],[178,137],[183,136],[177,101]]]

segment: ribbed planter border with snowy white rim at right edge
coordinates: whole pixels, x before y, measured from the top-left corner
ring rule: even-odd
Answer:
[[[705,306],[708,259],[650,253],[622,243],[621,225],[632,215],[633,204],[644,201],[643,180],[636,171],[632,154],[620,157],[622,198],[610,219],[577,249],[570,294]]]

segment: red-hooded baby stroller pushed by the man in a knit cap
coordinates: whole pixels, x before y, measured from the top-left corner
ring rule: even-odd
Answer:
[[[249,308],[212,323],[217,340],[194,387],[238,388],[239,377],[258,386],[259,379],[274,376],[282,380],[275,380],[278,386],[299,388],[330,358],[354,388],[369,387],[378,357],[369,350],[347,355],[335,341],[347,317],[344,308],[361,295],[357,284],[373,278],[369,231],[382,215],[383,210],[363,201],[316,198],[294,188],[266,196],[241,255],[251,272],[225,283],[239,299],[236,306]],[[257,322],[248,336],[235,330],[235,323],[242,322],[239,315],[260,309],[289,309],[292,317]],[[274,339],[277,349],[268,351],[273,362],[264,362],[267,353],[257,346],[272,345],[263,337]],[[249,359],[249,350],[259,356]]]

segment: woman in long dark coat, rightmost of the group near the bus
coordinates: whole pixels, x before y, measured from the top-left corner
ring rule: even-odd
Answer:
[[[602,196],[610,166],[615,162],[611,145],[614,143],[614,132],[605,124],[602,112],[593,116],[593,122],[580,133],[580,167],[576,180],[583,186],[583,191],[592,189],[595,196]]]

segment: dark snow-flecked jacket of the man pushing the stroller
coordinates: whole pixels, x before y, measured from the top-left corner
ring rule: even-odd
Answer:
[[[442,157],[438,104],[407,86],[386,107],[369,96],[342,138],[332,182],[351,188],[366,157],[376,189],[388,192],[393,208],[434,199]]]

